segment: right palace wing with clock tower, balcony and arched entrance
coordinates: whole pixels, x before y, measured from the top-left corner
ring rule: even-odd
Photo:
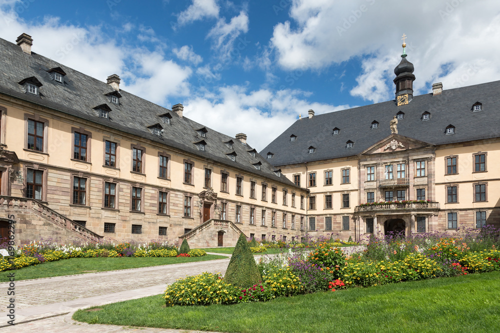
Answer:
[[[309,110],[261,151],[310,191],[308,234],[500,227],[500,81],[413,96],[404,47],[394,100]]]

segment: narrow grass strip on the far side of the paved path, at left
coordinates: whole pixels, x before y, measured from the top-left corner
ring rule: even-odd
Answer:
[[[194,258],[163,258],[163,257],[121,257],[121,258],[70,258],[65,260],[45,262],[18,270],[0,273],[0,282],[8,281],[9,273],[15,274],[15,281],[59,277],[64,275],[85,274],[125,270],[129,268],[192,263],[215,259],[226,259],[224,256],[206,255]]]

